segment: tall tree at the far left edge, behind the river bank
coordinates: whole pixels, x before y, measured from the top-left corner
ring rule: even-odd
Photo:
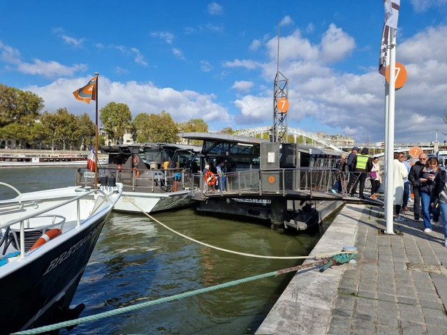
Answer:
[[[36,120],[42,108],[43,99],[38,95],[0,84],[0,127],[23,124],[29,117]]]

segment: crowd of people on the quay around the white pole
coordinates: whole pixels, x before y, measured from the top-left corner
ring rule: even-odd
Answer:
[[[382,182],[382,171],[379,165],[379,158],[370,157],[367,148],[360,151],[358,147],[353,147],[347,157],[342,154],[337,161],[338,170],[337,181],[332,187],[333,193],[342,191],[342,173],[349,172],[346,181],[346,193],[351,197],[356,196],[365,199],[365,181],[367,177],[371,181],[371,198],[377,199],[377,191]],[[411,192],[412,191],[412,192]],[[409,201],[413,194],[413,218],[415,221],[423,219],[424,232],[432,232],[433,226],[439,223],[442,218],[444,228],[444,246],[447,247],[447,174],[439,167],[438,158],[422,153],[418,156],[418,161],[411,164],[409,159],[405,159],[404,153],[396,152],[393,160],[393,204],[394,221],[404,221],[400,216],[402,212],[409,211]]]

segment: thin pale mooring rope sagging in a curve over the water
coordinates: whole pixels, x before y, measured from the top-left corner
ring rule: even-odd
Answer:
[[[122,197],[126,198],[126,195],[122,195]],[[162,225],[164,228],[166,228],[167,230],[170,230],[174,234],[177,234],[177,235],[179,235],[181,237],[184,237],[185,239],[189,239],[189,241],[193,241],[193,242],[195,242],[197,244],[201,244],[203,246],[207,246],[209,248],[213,248],[213,249],[216,249],[216,250],[219,250],[219,251],[224,251],[226,253],[234,253],[236,255],[242,255],[242,256],[253,257],[253,258],[267,258],[267,259],[272,259],[272,260],[299,260],[299,259],[306,259],[306,258],[315,258],[316,260],[321,260],[323,258],[328,258],[328,257],[332,257],[334,255],[338,255],[339,253],[357,253],[356,250],[349,250],[349,249],[343,249],[342,251],[336,251],[334,253],[320,253],[320,254],[317,254],[317,255],[314,255],[314,256],[311,256],[311,255],[307,255],[307,256],[264,256],[264,255],[256,255],[254,253],[240,253],[239,251],[223,249],[223,248],[219,248],[219,246],[212,246],[211,244],[207,244],[207,243],[204,243],[202,241],[198,241],[197,239],[193,239],[193,238],[191,238],[189,236],[186,236],[186,235],[184,235],[184,234],[182,234],[180,232],[177,232],[176,230],[173,230],[172,228],[169,228],[164,223],[161,223],[160,221],[158,221],[153,216],[150,216],[148,213],[145,212],[144,209],[142,209],[140,206],[138,206],[138,204],[135,204],[135,202],[131,202],[131,204],[133,204],[133,206],[137,207],[142,212],[142,214],[145,214],[145,216],[150,218],[152,221],[155,221],[159,225]]]

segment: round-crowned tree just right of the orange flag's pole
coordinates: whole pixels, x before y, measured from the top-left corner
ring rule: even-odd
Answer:
[[[122,141],[126,131],[132,128],[132,113],[125,103],[108,103],[101,108],[99,119],[113,143]]]

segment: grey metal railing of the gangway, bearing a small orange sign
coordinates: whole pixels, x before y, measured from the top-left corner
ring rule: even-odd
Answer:
[[[219,184],[225,184],[221,195],[232,193],[284,196],[305,191],[312,198],[315,192],[330,191],[336,181],[342,184],[342,193],[339,196],[346,195],[358,178],[358,174],[339,172],[335,168],[284,168],[228,172],[224,179],[216,177]],[[205,185],[205,179],[201,174],[196,178],[199,178],[200,186],[193,191],[194,198],[198,198],[196,193],[206,195],[222,189]]]

